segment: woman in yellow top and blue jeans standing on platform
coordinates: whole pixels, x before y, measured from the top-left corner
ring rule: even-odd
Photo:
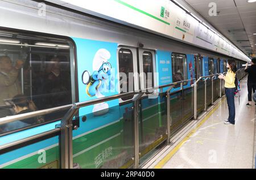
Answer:
[[[229,107],[229,118],[224,120],[225,125],[235,124],[235,117],[236,117],[236,108],[234,104],[234,92],[236,91],[235,79],[236,79],[236,61],[234,59],[229,59],[226,67],[229,68],[228,73],[226,76],[220,75],[218,76],[219,79],[225,80],[225,93],[226,93],[226,100],[228,101]]]

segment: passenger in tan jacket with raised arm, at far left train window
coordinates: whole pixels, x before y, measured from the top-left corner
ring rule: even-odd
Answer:
[[[13,67],[10,57],[0,57],[0,118],[10,115],[6,101],[21,93],[18,76],[22,65],[18,59]]]

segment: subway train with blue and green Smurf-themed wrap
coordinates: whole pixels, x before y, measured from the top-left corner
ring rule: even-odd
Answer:
[[[39,16],[37,1],[0,1],[0,75],[7,77],[0,85],[0,168],[63,168],[61,132],[36,136],[62,128],[61,119],[72,104],[92,100],[102,101],[77,109],[69,127],[72,168],[133,167],[135,94],[131,92],[146,89],[137,100],[142,165],[166,142],[168,128],[175,135],[193,119],[196,80],[199,115],[205,105],[224,95],[224,83],[216,74],[227,71],[228,59],[236,59],[240,72],[246,63],[52,3],[46,6],[47,15]],[[5,69],[6,63],[16,74]],[[170,91],[170,127],[166,91]],[[16,104],[15,98],[24,101]],[[10,120],[30,103],[34,109],[27,113],[41,115]]]

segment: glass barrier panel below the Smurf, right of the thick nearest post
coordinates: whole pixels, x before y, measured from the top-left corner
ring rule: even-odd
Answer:
[[[133,103],[90,114],[80,109],[80,128],[73,131],[74,163],[83,169],[130,168],[133,157]]]

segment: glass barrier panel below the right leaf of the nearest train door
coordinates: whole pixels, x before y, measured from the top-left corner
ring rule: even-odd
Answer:
[[[139,164],[167,139],[167,98],[166,93],[147,95],[141,99],[139,117]]]

